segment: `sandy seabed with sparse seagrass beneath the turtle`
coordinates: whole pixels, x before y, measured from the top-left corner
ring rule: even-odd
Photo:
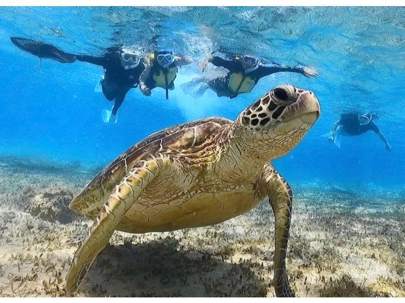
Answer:
[[[0,296],[69,296],[75,237],[67,208],[97,173],[0,158]],[[405,296],[405,190],[354,194],[292,184],[287,270],[297,296]],[[274,296],[273,215],[264,201],[221,224],[115,232],[76,296]]]

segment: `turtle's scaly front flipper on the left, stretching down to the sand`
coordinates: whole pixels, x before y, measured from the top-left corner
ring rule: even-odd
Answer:
[[[163,158],[151,157],[149,160],[137,162],[134,168],[112,190],[107,202],[91,226],[89,234],[80,243],[74,254],[66,277],[68,293],[74,293],[77,290],[94,259],[107,245],[121,218],[159,173],[159,165],[161,165],[159,162],[164,160]]]

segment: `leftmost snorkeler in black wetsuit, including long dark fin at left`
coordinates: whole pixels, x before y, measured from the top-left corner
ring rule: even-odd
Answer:
[[[139,54],[120,47],[110,47],[102,57],[72,55],[58,48],[30,39],[11,37],[11,41],[20,49],[39,58],[48,58],[61,63],[82,62],[104,67],[104,77],[100,81],[101,91],[108,101],[114,100],[111,110],[103,110],[103,121],[116,123],[117,110],[123,104],[126,94],[139,84],[139,76],[145,65]]]

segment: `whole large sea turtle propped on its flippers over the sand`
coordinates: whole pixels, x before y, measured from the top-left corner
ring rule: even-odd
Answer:
[[[275,293],[294,296],[286,271],[293,195],[269,160],[295,147],[319,114],[312,92],[282,85],[235,121],[192,121],[129,148],[69,204],[94,223],[74,254],[67,291],[77,290],[115,230],[166,232],[217,224],[268,198],[275,216]]]

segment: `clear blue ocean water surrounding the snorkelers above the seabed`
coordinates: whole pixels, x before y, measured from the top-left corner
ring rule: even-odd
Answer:
[[[405,8],[403,7],[3,7],[0,10],[0,155],[102,166],[159,129],[238,113],[277,85],[312,90],[321,116],[275,167],[292,183],[320,182],[404,190]],[[53,44],[73,54],[102,55],[121,43],[141,51],[169,49],[193,57],[176,88],[152,96],[131,90],[117,124],[105,124],[111,102],[94,92],[102,67],[61,64],[16,48],[10,36]],[[315,67],[318,78],[277,73],[230,100],[212,91],[194,100],[180,84],[201,74],[196,63],[216,51]],[[377,112],[391,144],[372,132],[344,137],[341,148],[322,134],[341,112]]]

